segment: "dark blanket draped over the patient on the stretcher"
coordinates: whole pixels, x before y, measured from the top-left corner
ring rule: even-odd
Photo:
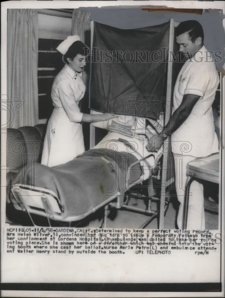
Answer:
[[[91,149],[78,158],[55,167],[38,163],[35,163],[34,167],[27,165],[12,182],[30,184],[56,193],[64,208],[64,218],[82,215],[119,189],[122,195],[126,191],[119,176],[125,177],[127,163],[137,160],[131,153],[129,157],[127,154],[120,152],[118,162],[115,152]],[[141,173],[140,166],[135,167],[135,170],[131,171],[129,183],[138,179]],[[124,182],[124,179],[122,180]]]

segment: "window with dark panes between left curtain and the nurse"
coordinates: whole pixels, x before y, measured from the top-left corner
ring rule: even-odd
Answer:
[[[64,66],[57,46],[71,35],[72,10],[38,10],[38,110],[39,123],[46,123],[53,105],[51,87],[54,77]]]

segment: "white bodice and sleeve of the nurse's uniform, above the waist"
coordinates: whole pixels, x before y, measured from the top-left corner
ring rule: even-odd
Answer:
[[[64,109],[72,122],[81,122],[83,113],[78,103],[85,93],[82,73],[76,73],[67,64],[55,77],[51,89],[51,99],[56,108]]]

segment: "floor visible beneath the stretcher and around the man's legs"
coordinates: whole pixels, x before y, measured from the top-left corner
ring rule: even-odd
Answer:
[[[176,226],[176,215],[179,208],[179,202],[177,201],[176,196],[173,195],[167,195],[167,197],[170,197],[170,204],[168,207],[168,210],[164,217],[164,228],[166,229],[177,229]],[[134,198],[131,197],[129,201],[129,205],[132,207],[138,207],[138,208],[145,208],[146,202],[143,199],[140,198]],[[215,208],[215,205],[217,207]],[[12,206],[11,206],[12,207]],[[11,208],[7,210],[7,218],[6,223],[9,225],[24,225],[24,226],[32,226],[32,223],[29,219],[29,217],[24,214],[24,212],[18,212],[15,211],[14,208]],[[218,204],[212,203],[212,199],[207,196],[205,198],[205,207],[207,209],[213,210],[214,213],[205,212],[205,221],[206,221],[206,229],[218,229],[218,215],[215,214],[216,209],[218,209]],[[157,210],[157,204],[156,202],[151,203],[151,209]],[[82,223],[75,223],[71,226],[79,226],[79,227],[98,227],[99,226],[99,220],[102,218],[104,214],[104,209],[99,210],[96,212],[95,215],[92,215],[88,218],[88,220],[82,222]],[[149,218],[148,215],[140,214],[137,212],[131,212],[130,210],[126,209],[116,209],[116,208],[110,208],[110,213],[107,218],[107,228],[140,228],[140,226],[145,223],[145,221]],[[48,226],[48,222],[46,218],[36,218],[37,224],[41,226]],[[157,229],[159,222],[159,218],[154,218],[145,228],[146,229]],[[67,223],[54,223],[53,226],[67,226]]]

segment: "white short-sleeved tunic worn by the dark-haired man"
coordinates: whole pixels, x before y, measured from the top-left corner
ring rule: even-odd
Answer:
[[[212,114],[218,83],[215,63],[202,46],[193,58],[185,62],[174,87],[174,111],[185,94],[200,96],[188,118],[171,136],[174,153],[201,157],[218,152]]]

